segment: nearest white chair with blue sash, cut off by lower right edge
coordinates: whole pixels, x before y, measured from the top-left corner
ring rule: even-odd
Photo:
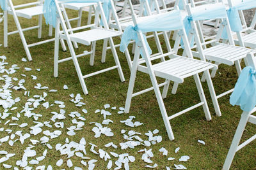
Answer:
[[[255,134],[254,136],[252,136],[251,138],[247,139],[246,141],[239,145],[247,122],[256,125],[256,117],[252,115],[252,113],[255,113],[256,111],[256,60],[253,54],[250,53],[247,55],[247,59],[250,67],[245,67],[243,69],[241,75],[239,76],[239,79],[237,80],[235,90],[230,96],[230,104],[232,104],[233,106],[235,104],[240,105],[241,109],[243,110],[243,113],[237,126],[236,134],[228,150],[228,155],[222,168],[223,170],[230,169],[232,160],[234,159],[236,152],[238,152],[239,150],[241,150],[241,148],[243,148],[244,146],[252,142],[254,139],[256,139]],[[250,93],[248,93],[248,91],[250,91]]]

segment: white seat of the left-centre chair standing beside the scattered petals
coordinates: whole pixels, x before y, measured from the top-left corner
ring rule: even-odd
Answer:
[[[95,29],[91,29],[88,31],[82,31],[82,32],[70,34],[70,39],[71,41],[75,41],[77,43],[90,45],[93,41],[97,41],[105,38],[111,38],[111,37],[120,36],[120,35],[122,35],[122,32],[114,31],[111,29],[102,29],[100,27],[97,27]],[[60,38],[66,39],[63,34],[61,34]]]

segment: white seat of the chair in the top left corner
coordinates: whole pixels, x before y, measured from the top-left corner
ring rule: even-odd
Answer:
[[[24,9],[15,10],[15,11],[18,17],[31,19],[34,16],[43,14],[43,6],[42,5],[33,6],[30,8],[24,8]],[[11,15],[13,14],[11,10],[9,10],[8,13],[10,13]]]

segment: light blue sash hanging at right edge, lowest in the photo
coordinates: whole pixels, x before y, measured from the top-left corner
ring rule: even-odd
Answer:
[[[230,104],[239,105],[243,111],[251,111],[256,105],[256,71],[253,67],[244,67],[234,92],[230,96]]]

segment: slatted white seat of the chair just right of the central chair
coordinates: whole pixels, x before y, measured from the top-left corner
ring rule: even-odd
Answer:
[[[223,43],[216,43],[215,46],[204,50],[205,58],[207,60],[220,62],[227,64],[228,66],[234,65],[236,60],[243,59],[250,52],[255,52],[255,50]]]

